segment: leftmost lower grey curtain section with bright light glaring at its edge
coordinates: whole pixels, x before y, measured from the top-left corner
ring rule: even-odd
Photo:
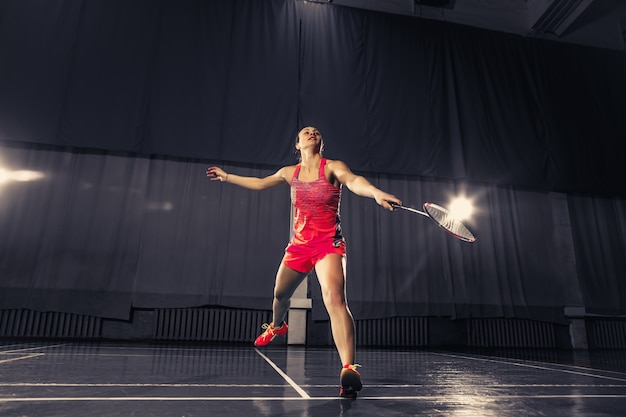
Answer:
[[[145,186],[144,164],[0,149],[2,308],[128,317],[143,200],[128,189]]]

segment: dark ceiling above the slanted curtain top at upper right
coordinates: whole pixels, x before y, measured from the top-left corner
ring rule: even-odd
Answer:
[[[624,50],[625,0],[312,0]]]

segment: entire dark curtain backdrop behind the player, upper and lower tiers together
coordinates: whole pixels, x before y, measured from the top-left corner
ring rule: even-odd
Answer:
[[[204,170],[267,175],[310,124],[409,204],[479,208],[468,245],[346,190],[357,317],[624,313],[623,52],[299,0],[0,0],[0,60],[0,308],[269,308],[288,189]]]

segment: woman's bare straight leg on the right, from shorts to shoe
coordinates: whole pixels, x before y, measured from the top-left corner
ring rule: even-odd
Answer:
[[[346,301],[345,257],[326,255],[315,266],[322,289],[324,305],[330,316],[333,340],[341,358],[341,364],[354,363],[354,319]]]

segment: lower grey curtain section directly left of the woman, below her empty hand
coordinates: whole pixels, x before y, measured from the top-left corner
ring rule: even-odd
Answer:
[[[274,275],[289,239],[289,187],[244,190],[208,180],[206,167],[150,161],[134,306],[271,306]]]

